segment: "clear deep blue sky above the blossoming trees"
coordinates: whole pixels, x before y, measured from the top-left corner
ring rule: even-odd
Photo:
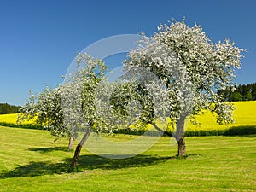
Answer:
[[[256,82],[256,1],[0,0],[0,102],[22,105],[61,84],[74,56],[113,35],[145,32],[175,18],[196,21],[214,42],[230,38],[247,49],[236,82]]]

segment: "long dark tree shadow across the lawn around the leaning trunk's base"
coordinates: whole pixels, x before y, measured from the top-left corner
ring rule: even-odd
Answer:
[[[94,154],[82,155],[79,158],[79,165],[76,172],[83,170],[115,170],[126,167],[149,166],[160,163],[170,157],[157,157],[151,155],[137,155],[128,159],[113,160]],[[17,166],[14,170],[0,173],[0,178],[7,177],[35,177],[42,175],[66,173],[71,162],[71,158],[63,160],[63,163],[51,163],[49,161],[30,162],[26,166]]]

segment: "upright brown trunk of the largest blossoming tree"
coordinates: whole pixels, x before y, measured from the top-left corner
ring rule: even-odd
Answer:
[[[185,134],[184,134],[184,126],[185,126],[186,117],[181,117],[177,120],[177,131],[175,134],[175,138],[177,141],[177,156],[183,157],[186,155],[186,143],[185,143]]]

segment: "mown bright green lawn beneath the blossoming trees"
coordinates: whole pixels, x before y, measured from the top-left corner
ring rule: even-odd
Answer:
[[[118,136],[125,140],[136,136]],[[175,159],[170,137],[144,154],[110,160],[73,151],[48,131],[0,127],[0,191],[255,191],[256,137],[187,137],[189,157]],[[115,139],[115,138],[112,138]],[[76,144],[76,143],[74,143]]]

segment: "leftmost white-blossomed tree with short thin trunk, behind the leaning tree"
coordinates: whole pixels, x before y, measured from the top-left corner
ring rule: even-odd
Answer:
[[[61,108],[61,94],[63,86],[59,85],[55,89],[46,87],[43,92],[33,95],[24,106],[20,108],[18,123],[31,121],[36,125],[44,126],[52,136],[57,138],[69,137],[68,149],[73,147],[73,136],[67,125],[63,122],[63,111]]]

